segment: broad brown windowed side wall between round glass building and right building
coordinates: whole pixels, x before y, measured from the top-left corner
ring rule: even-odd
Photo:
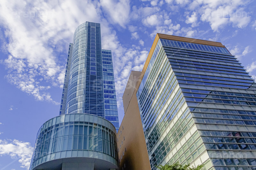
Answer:
[[[118,157],[120,159],[120,170],[122,170],[124,164],[124,169],[127,170],[151,169],[148,159],[148,151],[145,142],[144,132],[140,119],[140,112],[136,98],[136,92],[134,91],[132,95],[132,99],[129,103],[129,106],[124,115],[124,119],[117,133],[117,147],[119,148]],[[121,155],[123,159],[121,159]]]

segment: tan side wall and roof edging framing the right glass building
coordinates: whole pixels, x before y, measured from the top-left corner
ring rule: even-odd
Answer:
[[[125,111],[123,121],[117,132],[117,139],[118,139],[117,147],[119,148],[118,158],[120,159],[120,166],[119,166],[120,170],[122,170],[122,168],[124,167],[124,164],[125,164],[124,170],[125,169],[127,170],[150,170],[151,169],[144,132],[143,132],[142,123],[140,119],[140,112],[139,112],[136,92],[140,86],[140,82],[145,74],[145,71],[148,67],[148,63],[151,59],[151,56],[154,52],[154,49],[156,47],[156,44],[159,38],[175,40],[175,41],[183,41],[183,42],[192,42],[192,43],[198,43],[198,44],[204,44],[204,45],[212,45],[217,47],[225,47],[220,42],[198,40],[198,39],[178,37],[178,36],[165,35],[165,34],[159,34],[159,33],[156,34],[156,38],[149,51],[148,58],[141,71],[138,83],[133,91],[131,100],[128,103],[128,107],[127,107],[127,110]],[[129,91],[129,95],[130,93],[131,92]],[[123,100],[123,102],[125,102],[124,106],[127,105],[127,101],[129,101],[129,98]],[[122,144],[122,141],[123,141],[123,144]],[[120,148],[120,144],[121,144],[121,148]],[[126,148],[126,152],[125,152],[125,148]],[[123,159],[121,159],[121,155],[123,155],[123,151],[124,151],[124,156],[123,156]]]

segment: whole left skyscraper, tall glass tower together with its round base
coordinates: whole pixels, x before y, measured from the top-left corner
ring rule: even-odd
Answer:
[[[112,54],[100,24],[86,22],[69,44],[60,115],[39,129],[30,170],[117,169],[118,129]]]

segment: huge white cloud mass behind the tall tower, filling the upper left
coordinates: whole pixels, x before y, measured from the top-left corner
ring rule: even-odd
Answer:
[[[114,49],[117,54],[124,49],[119,42],[116,43],[116,33],[109,23],[100,17],[100,5],[104,6],[107,2],[93,4],[90,1],[66,0],[56,5],[35,0],[31,3],[28,4],[25,0],[19,3],[1,1],[0,23],[9,40],[6,49],[10,54],[2,62],[8,70],[5,78],[36,100],[59,105],[59,102],[52,100],[47,89],[51,86],[62,88],[66,55],[63,57],[64,61],[59,61],[58,52],[67,51],[63,47],[72,42],[74,30],[79,24],[85,21],[101,23],[102,46]],[[120,5],[125,3],[129,2],[122,1]],[[31,15],[27,15],[30,13]],[[116,22],[124,26],[125,22],[121,21]]]

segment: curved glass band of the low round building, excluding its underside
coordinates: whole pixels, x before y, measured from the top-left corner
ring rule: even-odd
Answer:
[[[88,114],[66,114],[45,122],[39,129],[30,169],[68,157],[90,157],[118,165],[115,127]]]

